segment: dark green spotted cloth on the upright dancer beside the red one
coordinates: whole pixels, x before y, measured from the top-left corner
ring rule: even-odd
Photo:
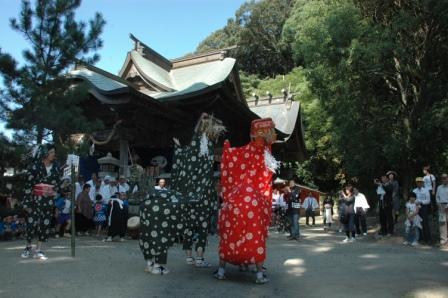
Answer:
[[[184,250],[190,250],[197,234],[196,250],[205,250],[210,217],[216,209],[213,185],[214,146],[205,134],[195,133],[189,145],[175,146],[171,189],[188,200],[188,226]]]

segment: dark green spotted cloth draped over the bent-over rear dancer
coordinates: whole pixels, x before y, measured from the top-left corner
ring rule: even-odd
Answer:
[[[145,260],[166,264],[168,248],[186,233],[186,200],[171,190],[158,190],[140,205],[140,249]]]

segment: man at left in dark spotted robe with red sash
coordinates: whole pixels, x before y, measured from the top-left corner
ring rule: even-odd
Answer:
[[[26,211],[26,247],[22,252],[22,258],[34,257],[46,260],[42,251],[42,243],[46,242],[50,233],[50,223],[53,216],[54,202],[53,192],[37,195],[34,190],[37,184],[53,186],[57,192],[61,185],[61,170],[56,162],[54,146],[50,144],[40,145],[34,154],[35,161],[27,170],[25,196],[23,208]],[[37,246],[33,254],[31,241],[37,236]]]

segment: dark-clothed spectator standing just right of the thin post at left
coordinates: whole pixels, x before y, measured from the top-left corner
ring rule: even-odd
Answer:
[[[93,208],[90,200],[90,185],[84,184],[82,192],[76,199],[76,230],[78,235],[89,235],[89,228],[92,225]]]

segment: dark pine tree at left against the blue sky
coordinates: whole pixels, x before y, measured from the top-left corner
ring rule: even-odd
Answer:
[[[19,66],[9,54],[0,51],[0,74],[5,90],[1,96],[3,118],[8,127],[23,138],[41,143],[45,138],[63,143],[74,132],[97,129],[101,123],[83,116],[80,102],[85,86],[72,88],[65,76],[77,60],[95,63],[99,56],[89,53],[101,48],[105,21],[96,13],[88,22],[76,21],[81,0],[22,0],[19,18],[11,28],[29,42]],[[67,125],[70,123],[70,125]]]

